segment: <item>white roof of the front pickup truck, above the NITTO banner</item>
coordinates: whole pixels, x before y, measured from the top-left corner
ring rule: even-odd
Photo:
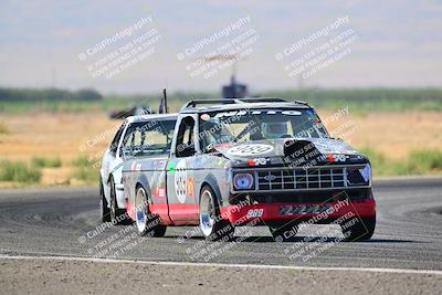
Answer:
[[[193,99],[188,102],[180,113],[200,113],[230,110],[240,108],[311,108],[307,103],[301,101],[287,102],[277,97],[253,97],[253,98],[219,98],[219,99]]]

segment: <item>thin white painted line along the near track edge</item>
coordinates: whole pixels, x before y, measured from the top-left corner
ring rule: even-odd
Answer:
[[[7,260],[56,260],[56,261],[82,261],[98,263],[135,263],[166,266],[204,266],[228,268],[270,268],[270,270],[295,270],[295,271],[355,271],[370,273],[402,273],[402,274],[433,274],[442,275],[442,271],[434,270],[410,270],[410,268],[376,268],[376,267],[322,267],[322,266],[296,266],[296,265],[259,265],[259,264],[223,264],[223,263],[193,263],[193,262],[167,262],[167,261],[141,261],[141,260],[117,260],[117,259],[93,259],[74,256],[24,256],[24,255],[0,255]]]

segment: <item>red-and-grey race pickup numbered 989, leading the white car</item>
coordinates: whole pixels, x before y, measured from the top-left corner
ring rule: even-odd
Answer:
[[[170,151],[130,157],[123,185],[141,235],[199,225],[206,239],[228,241],[235,226],[252,224],[286,241],[305,222],[338,224],[346,240],[359,241],[376,225],[368,158],[332,138],[298,101],[191,101]]]

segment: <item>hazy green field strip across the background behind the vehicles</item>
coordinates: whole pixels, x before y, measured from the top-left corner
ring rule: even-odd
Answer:
[[[53,93],[52,93],[53,92]],[[6,95],[6,93],[8,95]],[[256,95],[299,99],[323,108],[349,106],[357,112],[442,110],[442,88],[305,88],[266,91]],[[218,93],[170,93],[170,110],[178,110],[187,101],[215,98]],[[45,112],[108,112],[135,105],[158,109],[161,94],[102,95],[94,91],[0,88],[0,113]]]

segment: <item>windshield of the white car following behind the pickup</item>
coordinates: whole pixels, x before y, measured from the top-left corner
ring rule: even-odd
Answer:
[[[169,152],[175,124],[175,119],[131,124],[123,139],[124,157],[127,159]]]

